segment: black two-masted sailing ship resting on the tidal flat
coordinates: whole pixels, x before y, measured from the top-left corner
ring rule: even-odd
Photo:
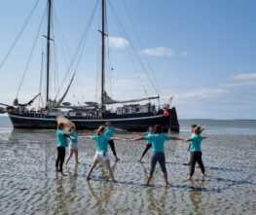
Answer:
[[[74,75],[70,80],[67,90],[58,100],[50,98],[50,54],[51,54],[51,21],[53,16],[53,0],[47,0],[47,78],[46,78],[46,103],[44,107],[38,110],[30,109],[29,106],[35,99],[40,97],[38,93],[33,99],[25,104],[18,103],[15,99],[13,105],[6,105],[6,112],[16,128],[55,128],[56,117],[64,116],[72,121],[78,129],[95,129],[99,125],[111,122],[113,126],[127,130],[145,130],[150,125],[163,125],[165,130],[179,131],[178,118],[175,107],[169,107],[165,104],[163,107],[154,104],[152,101],[159,100],[160,95],[146,96],[141,99],[131,99],[119,101],[112,99],[105,90],[105,40],[106,32],[106,0],[101,0],[101,95],[100,102],[85,102],[84,105],[72,105],[70,102],[63,102],[70,86],[72,85]],[[141,101],[148,101],[146,104],[140,104]],[[108,105],[123,104],[116,109],[108,109]],[[1,108],[1,112],[3,108]]]

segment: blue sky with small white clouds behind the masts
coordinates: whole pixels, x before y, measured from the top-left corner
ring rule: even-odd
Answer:
[[[16,96],[20,103],[29,101],[40,91],[40,80],[45,80],[43,35],[47,22],[42,18],[47,1],[39,0],[36,5],[37,1],[1,0],[2,103],[12,104]],[[51,98],[61,96],[76,71],[65,101],[83,104],[99,99],[100,4],[90,31],[86,31],[96,2],[54,0]],[[173,96],[171,105],[180,119],[256,119],[255,11],[254,0],[108,0],[108,94],[125,100],[159,93],[161,104]],[[89,34],[81,49],[84,32]],[[35,49],[28,63],[33,44]],[[45,85],[41,90],[44,97]]]

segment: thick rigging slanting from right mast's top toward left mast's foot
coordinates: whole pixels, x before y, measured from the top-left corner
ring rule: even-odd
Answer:
[[[92,14],[91,14],[91,18],[88,21],[86,29],[85,29],[85,31],[84,31],[84,33],[83,33],[83,35],[81,37],[81,40],[80,40],[80,42],[78,44],[77,50],[76,50],[76,52],[75,52],[75,54],[74,54],[74,56],[73,56],[73,58],[72,58],[72,60],[70,62],[70,65],[68,66],[68,69],[67,69],[67,71],[65,73],[65,76],[64,76],[64,78],[63,78],[63,80],[62,80],[62,82],[60,84],[60,87],[57,90],[57,93],[55,95],[55,99],[58,96],[58,94],[59,94],[59,92],[60,92],[60,90],[61,90],[61,88],[62,88],[62,86],[63,86],[63,84],[64,84],[64,82],[66,80],[66,78],[68,77],[69,72],[70,72],[70,70],[71,70],[71,68],[72,68],[76,58],[77,58],[77,64],[76,64],[75,68],[76,68],[76,70],[78,68],[78,65],[80,63],[81,57],[82,57],[82,55],[84,53],[84,48],[85,48],[85,45],[86,45],[86,42],[87,42],[87,39],[88,39],[88,36],[89,36],[89,31],[91,29],[91,23],[92,23],[92,20],[94,18],[94,15],[95,15],[95,11],[96,11],[98,2],[99,2],[99,0],[96,1],[96,4],[95,4],[94,9],[93,9]]]

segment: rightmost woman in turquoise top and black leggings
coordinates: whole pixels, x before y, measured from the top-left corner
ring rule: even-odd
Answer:
[[[202,137],[201,135],[201,126],[196,126],[194,128],[194,133],[192,134],[190,139],[184,140],[184,142],[190,143],[190,175],[185,180],[192,180],[193,174],[195,172],[196,162],[199,163],[201,168],[201,176],[204,177],[204,165],[201,161],[201,141],[206,137]]]

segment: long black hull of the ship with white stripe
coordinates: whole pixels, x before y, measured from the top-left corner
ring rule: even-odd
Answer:
[[[8,113],[14,127],[16,128],[56,128],[56,116],[39,113]],[[100,119],[90,119],[83,116],[68,116],[67,119],[72,121],[77,129],[96,129],[99,125],[104,125],[106,122],[111,122],[115,127],[127,130],[145,130],[150,125],[163,125],[165,129],[171,131],[179,131],[177,115],[175,108],[169,110],[169,116],[165,117],[163,112],[157,114],[133,114],[126,116],[118,116],[110,114],[109,116],[101,117]]]

